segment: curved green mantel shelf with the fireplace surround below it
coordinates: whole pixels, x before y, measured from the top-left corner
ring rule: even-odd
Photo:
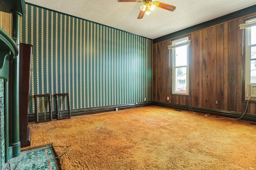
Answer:
[[[14,40],[0,28],[0,169],[11,157],[9,153],[9,61],[18,55]],[[12,150],[12,148],[11,148]]]

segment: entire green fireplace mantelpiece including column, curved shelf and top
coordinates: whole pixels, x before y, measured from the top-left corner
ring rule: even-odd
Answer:
[[[12,38],[0,28],[0,77],[3,81],[1,87],[4,95],[1,104],[3,105],[4,127],[1,127],[1,169],[4,163],[10,158],[20,155],[20,134],[19,134],[19,38],[20,38],[20,18],[26,14],[24,0],[2,0],[0,2],[0,11],[12,14]],[[15,40],[15,41],[14,41]],[[9,62],[12,63],[12,95],[9,96]],[[2,93],[1,93],[2,94]],[[12,108],[8,103],[12,102]],[[9,109],[12,113],[11,135],[12,141],[9,141]],[[2,121],[1,121],[2,122]],[[4,130],[2,130],[4,128]],[[9,146],[10,143],[10,146]],[[4,157],[2,153],[4,152]]]

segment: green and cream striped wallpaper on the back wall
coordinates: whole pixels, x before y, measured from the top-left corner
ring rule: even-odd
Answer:
[[[69,93],[81,109],[152,100],[152,40],[26,4],[20,41],[33,45],[32,93]]]

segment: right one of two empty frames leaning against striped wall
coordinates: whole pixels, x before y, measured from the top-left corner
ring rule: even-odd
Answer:
[[[56,94],[56,114],[57,120],[71,118],[68,93]]]

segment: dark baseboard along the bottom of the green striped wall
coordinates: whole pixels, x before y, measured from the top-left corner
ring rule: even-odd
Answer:
[[[82,116],[82,115],[90,115],[95,113],[103,113],[103,112],[110,112],[110,111],[116,111],[116,108],[118,110],[122,109],[130,109],[130,108],[136,108],[136,107],[144,107],[144,106],[150,106],[152,105],[152,101],[147,102],[138,102],[138,103],[129,103],[129,104],[123,104],[123,105],[111,105],[111,106],[103,106],[103,107],[90,107],[90,108],[83,108],[83,109],[71,109],[71,117],[74,116]],[[28,115],[28,122],[35,122],[35,114],[29,114]],[[56,119],[56,111],[52,112],[52,119]]]

